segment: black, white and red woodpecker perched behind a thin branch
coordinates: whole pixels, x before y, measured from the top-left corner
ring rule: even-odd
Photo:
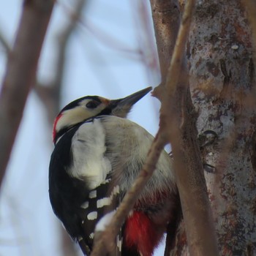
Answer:
[[[50,203],[86,255],[93,247],[95,226],[118,207],[154,140],[127,119],[132,105],[149,91],[151,87],[115,100],[82,97],[54,121]],[[121,228],[116,255],[153,255],[167,225],[176,219],[176,195],[172,160],[162,151],[157,170]]]

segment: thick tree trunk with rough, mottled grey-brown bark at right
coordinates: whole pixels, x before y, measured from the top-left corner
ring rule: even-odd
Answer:
[[[241,1],[197,1],[187,45],[199,134],[220,255],[256,255],[255,64]],[[210,166],[211,165],[211,166]],[[173,255],[188,255],[184,223]]]

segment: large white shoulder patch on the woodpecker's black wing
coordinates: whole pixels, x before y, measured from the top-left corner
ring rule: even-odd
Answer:
[[[89,189],[98,187],[111,170],[105,151],[105,129],[101,121],[94,119],[82,124],[72,138],[73,162],[69,175],[85,180]]]

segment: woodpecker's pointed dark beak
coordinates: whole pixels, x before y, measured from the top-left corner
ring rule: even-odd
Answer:
[[[135,105],[135,103],[144,97],[149,91],[151,91],[151,89],[152,87],[148,87],[141,91],[137,91],[123,99],[110,100],[110,105],[108,107],[111,108],[112,115],[126,117],[132,106]]]

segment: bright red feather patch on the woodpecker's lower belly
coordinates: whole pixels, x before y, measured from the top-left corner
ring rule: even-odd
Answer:
[[[124,244],[137,248],[143,256],[153,255],[154,248],[161,241],[163,233],[142,211],[134,211],[128,217],[124,230]]]

